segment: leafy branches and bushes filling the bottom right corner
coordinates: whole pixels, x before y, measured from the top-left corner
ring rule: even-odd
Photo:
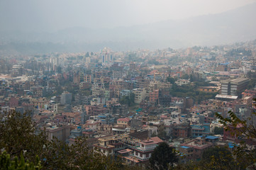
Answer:
[[[247,147],[247,142],[255,142],[256,128],[251,121],[241,120],[235,113],[229,112],[228,118],[216,113],[220,123],[224,125],[224,130],[230,131],[231,135],[239,137],[239,144],[234,145],[233,152],[226,148],[211,148],[203,154],[200,162],[189,162],[179,164],[175,169],[256,169],[256,149]],[[256,113],[252,113],[255,116]]]

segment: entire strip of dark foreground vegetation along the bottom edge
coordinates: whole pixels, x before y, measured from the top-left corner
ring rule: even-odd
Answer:
[[[256,150],[246,145],[256,139],[252,120],[240,120],[232,112],[229,118],[218,113],[216,116],[224,130],[230,130],[240,140],[232,153],[223,147],[213,147],[204,152],[200,162],[178,164],[174,148],[163,142],[155,148],[146,169],[256,169]],[[44,131],[36,133],[35,124],[27,114],[4,113],[0,120],[1,169],[143,169],[125,166],[119,159],[90,150],[85,138],[77,138],[70,146],[57,139],[48,141]]]

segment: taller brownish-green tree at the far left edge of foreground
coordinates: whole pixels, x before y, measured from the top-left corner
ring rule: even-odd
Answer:
[[[0,114],[0,148],[10,154],[11,159],[24,157],[35,162],[35,157],[43,152],[46,140],[45,132],[35,134],[35,123],[31,121],[27,113],[21,114],[16,111]]]

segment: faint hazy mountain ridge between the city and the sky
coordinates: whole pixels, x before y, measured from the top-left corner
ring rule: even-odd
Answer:
[[[99,51],[220,45],[256,38],[256,3],[224,13],[113,29],[67,28],[55,33],[0,33],[0,50]],[[26,43],[25,43],[26,42]]]

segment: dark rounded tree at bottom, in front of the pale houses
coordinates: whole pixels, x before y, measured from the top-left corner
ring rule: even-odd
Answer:
[[[160,143],[150,157],[150,167],[152,169],[169,169],[178,162],[174,147],[169,147],[166,142]]]

